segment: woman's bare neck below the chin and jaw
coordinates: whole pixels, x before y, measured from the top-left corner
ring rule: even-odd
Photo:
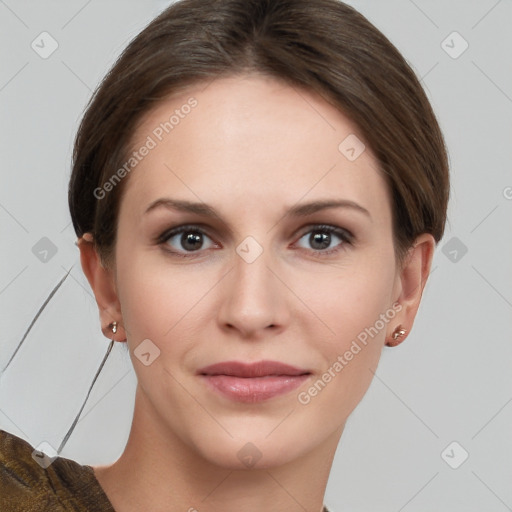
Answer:
[[[278,467],[223,468],[165,427],[137,386],[123,454],[93,469],[116,512],[321,512],[342,430]]]

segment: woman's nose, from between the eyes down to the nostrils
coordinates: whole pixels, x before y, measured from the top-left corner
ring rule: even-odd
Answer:
[[[261,339],[269,331],[281,331],[289,320],[286,287],[276,277],[266,251],[251,263],[236,252],[234,268],[223,280],[218,321],[221,329],[243,338]]]

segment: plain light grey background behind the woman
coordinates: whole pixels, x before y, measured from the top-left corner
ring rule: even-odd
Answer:
[[[512,510],[512,2],[348,3],[422,77],[453,190],[413,331],[384,349],[347,423],[325,502],[335,512]],[[0,376],[0,428],[34,446],[60,444],[108,345],[67,210],[77,123],[116,56],[166,4],[0,0],[0,369],[72,268]],[[43,31],[59,45],[47,59],[31,48]],[[454,31],[469,44],[457,58],[464,43]],[[46,260],[44,237],[56,251]],[[135,382],[116,344],[61,455],[114,461]],[[452,469],[446,460],[462,450],[469,458]]]

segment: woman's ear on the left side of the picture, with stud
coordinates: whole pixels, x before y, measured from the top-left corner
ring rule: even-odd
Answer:
[[[80,263],[98,304],[101,330],[108,339],[126,341],[126,331],[122,321],[121,305],[117,297],[114,275],[111,269],[103,266],[93,242],[91,233],[85,233],[77,241],[80,249]],[[109,325],[117,322],[114,334]]]

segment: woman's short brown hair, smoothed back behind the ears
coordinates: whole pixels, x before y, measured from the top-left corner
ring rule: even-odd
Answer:
[[[69,208],[113,262],[125,178],[94,190],[123,165],[141,117],[178,89],[256,71],[320,94],[361,131],[392,197],[398,260],[421,233],[441,239],[448,157],[425,92],[393,44],[337,0],[181,0],[121,54],[94,93],[77,133]],[[341,141],[340,141],[341,142]]]

